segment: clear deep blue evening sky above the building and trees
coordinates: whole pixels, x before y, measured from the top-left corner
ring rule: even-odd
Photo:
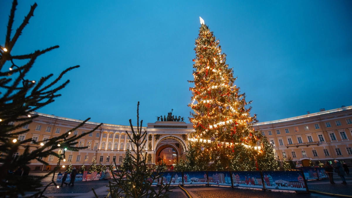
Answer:
[[[81,65],[42,113],[127,125],[136,123],[140,101],[144,123],[171,109],[188,117],[199,16],[260,122],[352,105],[349,0],[36,2],[12,54],[60,48],[39,57],[28,78]],[[33,3],[19,1],[14,29]],[[10,0],[0,2],[1,45],[10,8]]]

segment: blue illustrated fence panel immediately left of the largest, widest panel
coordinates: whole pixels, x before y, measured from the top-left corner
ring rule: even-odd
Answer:
[[[263,189],[260,171],[231,171],[233,187]]]

